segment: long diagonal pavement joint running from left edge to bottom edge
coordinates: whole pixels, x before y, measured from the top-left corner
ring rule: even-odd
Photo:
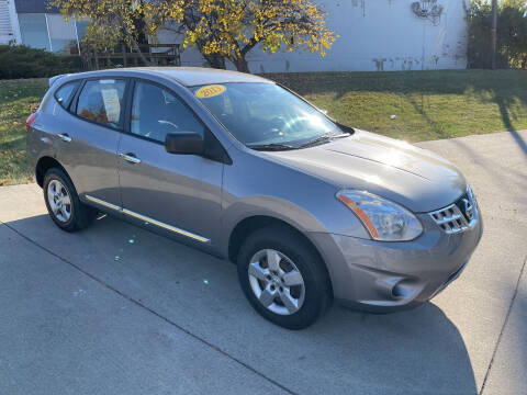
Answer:
[[[172,321],[171,319],[162,316],[161,314],[157,313],[155,309],[144,305],[143,303],[141,303],[139,301],[135,300],[134,297],[132,296],[128,296],[126,295],[125,293],[119,291],[117,289],[113,287],[112,285],[108,284],[106,282],[104,282],[103,280],[97,278],[96,275],[87,272],[86,270],[83,270],[82,268],[80,268],[79,266],[75,264],[74,262],[70,262],[69,260],[67,260],[66,258],[63,258],[60,257],[59,255],[55,253],[54,251],[47,249],[46,247],[40,245],[38,242],[36,242],[35,240],[33,240],[32,238],[25,236],[24,234],[22,234],[21,232],[19,232],[18,229],[15,229],[14,227],[8,225],[7,223],[0,221],[0,224],[4,225],[7,228],[11,229],[12,232],[14,232],[16,235],[19,235],[20,237],[24,238],[25,240],[30,241],[31,244],[33,244],[34,246],[41,248],[42,250],[46,251],[47,253],[54,256],[55,258],[59,259],[60,261],[69,264],[70,267],[72,267],[74,269],[78,270],[79,272],[81,272],[82,274],[87,275],[88,278],[90,278],[91,280],[98,282],[100,285],[109,289],[110,291],[113,291],[115,294],[117,294],[119,296],[121,297],[124,297],[125,300],[127,300],[128,302],[132,302],[133,304],[144,308],[145,311],[147,311],[148,313],[155,315],[156,317],[162,319],[165,323],[171,325],[172,327],[181,330],[182,332],[189,335],[190,337],[192,337],[193,339],[202,342],[203,345],[210,347],[211,349],[220,352],[221,354],[225,356],[226,358],[231,359],[232,361],[238,363],[239,365],[242,365],[243,368],[249,370],[250,372],[255,373],[256,375],[262,377],[264,380],[267,380],[269,383],[276,385],[277,387],[279,387],[280,390],[287,392],[288,394],[291,394],[291,395],[296,395],[295,392],[293,392],[292,390],[285,387],[284,385],[278,383],[277,381],[272,380],[271,377],[265,375],[264,373],[257,371],[255,368],[253,368],[251,365],[243,362],[242,360],[237,359],[236,357],[234,356],[231,356],[228,352],[222,350],[220,347],[213,345],[212,342],[199,337],[198,335],[194,335],[192,334],[189,329],[186,329],[184,327],[182,327],[181,325]]]

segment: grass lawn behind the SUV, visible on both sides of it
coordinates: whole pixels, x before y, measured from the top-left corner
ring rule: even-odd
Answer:
[[[522,70],[268,77],[341,123],[408,142],[527,128],[527,71]],[[33,176],[24,123],[46,88],[47,79],[0,81],[0,184],[26,182]]]

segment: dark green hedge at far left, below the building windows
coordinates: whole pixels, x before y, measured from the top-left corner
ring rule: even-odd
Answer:
[[[81,69],[79,56],[57,56],[25,45],[0,45],[0,79],[52,77]]]

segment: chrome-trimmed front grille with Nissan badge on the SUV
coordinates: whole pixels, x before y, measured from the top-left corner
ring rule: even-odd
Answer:
[[[478,221],[478,204],[469,187],[467,193],[449,206],[430,213],[437,225],[448,235],[464,232]]]

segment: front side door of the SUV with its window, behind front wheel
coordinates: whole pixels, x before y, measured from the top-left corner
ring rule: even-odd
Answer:
[[[175,93],[136,80],[128,133],[117,150],[123,211],[143,225],[209,249],[218,239],[224,165],[168,154],[165,136],[178,132],[210,133]]]

